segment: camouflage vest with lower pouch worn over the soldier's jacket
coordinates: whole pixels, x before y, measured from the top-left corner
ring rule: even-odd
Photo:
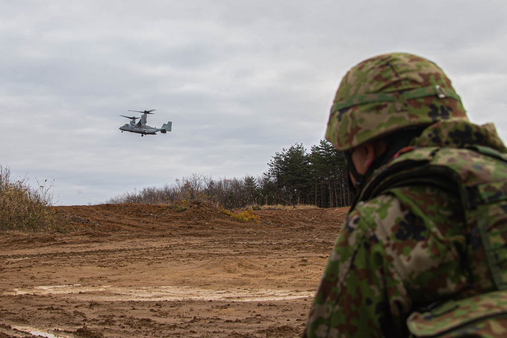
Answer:
[[[476,295],[413,312],[407,319],[411,336],[507,337],[507,155],[477,145],[406,147],[373,173],[354,203],[413,184],[459,196]]]

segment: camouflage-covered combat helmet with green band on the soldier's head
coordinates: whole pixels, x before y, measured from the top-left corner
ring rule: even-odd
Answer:
[[[439,66],[412,54],[383,54],[345,74],[325,138],[347,151],[401,129],[451,118],[468,120]]]

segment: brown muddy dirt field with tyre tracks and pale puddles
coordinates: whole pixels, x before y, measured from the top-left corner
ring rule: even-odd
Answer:
[[[0,338],[301,336],[347,213],[56,209],[80,230],[0,233]]]

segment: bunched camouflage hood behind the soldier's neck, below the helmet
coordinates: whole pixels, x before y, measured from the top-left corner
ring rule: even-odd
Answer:
[[[424,129],[421,136],[413,139],[410,145],[453,148],[481,145],[493,148],[500,153],[507,153],[492,123],[479,126],[463,119],[436,122]]]

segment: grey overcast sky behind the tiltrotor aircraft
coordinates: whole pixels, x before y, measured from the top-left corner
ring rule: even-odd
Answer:
[[[56,205],[260,176],[324,138],[349,68],[399,51],[444,68],[505,140],[506,18],[504,0],[2,1],[0,164],[54,180]],[[128,109],[172,132],[122,133]]]

